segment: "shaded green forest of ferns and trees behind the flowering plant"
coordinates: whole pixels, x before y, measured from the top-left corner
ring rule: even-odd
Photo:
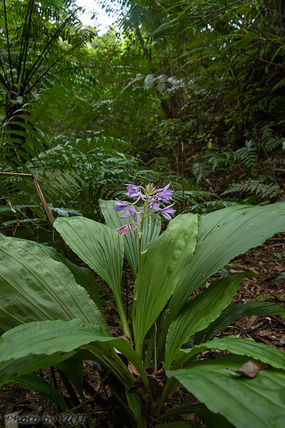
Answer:
[[[0,4],[0,170],[36,175],[53,216],[101,220],[123,183],[172,181],[178,212],[284,200],[280,0]],[[31,178],[1,175],[1,232],[53,239]]]

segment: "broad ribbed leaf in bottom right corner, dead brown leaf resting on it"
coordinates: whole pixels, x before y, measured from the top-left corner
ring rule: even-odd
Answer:
[[[195,362],[167,372],[209,410],[226,417],[237,428],[281,428],[285,420],[285,371],[268,367],[253,379],[234,375],[248,357],[229,355]]]

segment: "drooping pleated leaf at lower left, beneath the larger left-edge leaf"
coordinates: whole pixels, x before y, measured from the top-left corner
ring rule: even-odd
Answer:
[[[67,360],[77,347],[100,337],[110,339],[98,325],[78,319],[19,325],[0,337],[0,384]]]

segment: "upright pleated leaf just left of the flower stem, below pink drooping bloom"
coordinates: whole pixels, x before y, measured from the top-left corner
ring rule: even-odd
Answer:
[[[123,238],[108,226],[89,218],[57,218],[54,227],[79,257],[110,285],[115,300],[121,301]]]

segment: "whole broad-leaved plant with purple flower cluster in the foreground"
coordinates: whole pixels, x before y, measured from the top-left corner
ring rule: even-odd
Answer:
[[[76,387],[91,425],[83,389],[83,360],[91,360],[123,385],[122,427],[191,427],[172,418],[195,413],[210,428],[281,428],[284,352],[217,333],[240,317],[284,317],[285,310],[270,302],[230,305],[251,272],[210,278],[235,256],[284,231],[285,203],[237,205],[170,220],[172,193],[170,185],[127,185],[132,202],[101,201],[106,224],[82,216],[54,223],[112,290],[122,337],[110,333],[89,269],[53,248],[1,235],[0,385],[36,389],[66,412],[60,392],[34,373],[54,365]],[[170,223],[160,234],[161,215]],[[122,300],[124,258],[135,278],[131,314]],[[231,355],[211,360],[202,357],[207,350]],[[172,408],[169,399],[180,385],[199,402]]]

